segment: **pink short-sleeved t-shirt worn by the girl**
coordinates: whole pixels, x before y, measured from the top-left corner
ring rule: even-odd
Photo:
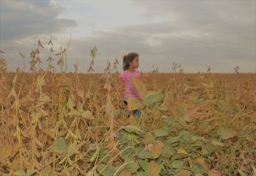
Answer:
[[[122,78],[122,80],[124,80],[125,82],[124,98],[127,98],[127,97],[140,98],[138,92],[136,91],[136,89],[131,83],[130,78],[132,77],[140,78],[140,71],[135,70],[133,73],[131,73],[130,71],[125,70],[119,75],[119,78]]]

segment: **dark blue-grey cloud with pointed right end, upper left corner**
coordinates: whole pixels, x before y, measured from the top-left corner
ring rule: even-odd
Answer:
[[[1,40],[54,34],[77,26],[76,20],[58,18],[61,11],[61,6],[50,1],[1,1]]]

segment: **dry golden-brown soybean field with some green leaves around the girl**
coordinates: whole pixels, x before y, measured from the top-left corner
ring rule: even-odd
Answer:
[[[1,58],[2,175],[256,174],[253,73],[144,73],[132,80],[142,100],[125,106],[110,64],[104,74],[33,64],[8,72]]]

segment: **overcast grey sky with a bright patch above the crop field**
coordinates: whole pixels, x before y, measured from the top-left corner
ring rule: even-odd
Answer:
[[[0,50],[8,70],[29,69],[29,53],[40,38],[42,67],[47,65],[52,37],[54,52],[68,48],[68,69],[85,73],[90,49],[97,47],[95,71],[107,61],[120,62],[128,52],[140,54],[141,71],[185,73],[256,71],[256,1],[0,1]],[[19,52],[26,54],[25,61]],[[54,62],[58,57],[54,55]],[[113,65],[112,65],[113,68]],[[58,69],[59,70],[59,69]]]

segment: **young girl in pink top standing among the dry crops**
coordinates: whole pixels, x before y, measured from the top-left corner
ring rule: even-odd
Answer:
[[[127,105],[127,98],[134,97],[140,99],[140,96],[134,86],[131,84],[131,78],[137,77],[140,78],[140,71],[137,71],[135,69],[138,69],[139,67],[139,54],[136,52],[131,52],[127,55],[124,55],[123,57],[123,69],[124,71],[119,75],[120,81],[121,81],[121,87],[122,87],[122,98]],[[132,115],[135,115],[137,117],[140,117],[140,110],[133,110]]]

